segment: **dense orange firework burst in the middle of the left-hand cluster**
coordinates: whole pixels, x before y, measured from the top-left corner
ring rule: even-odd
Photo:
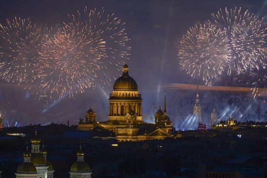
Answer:
[[[44,73],[40,75],[44,95],[56,93],[62,97],[83,92],[92,86],[97,60],[104,54],[104,42],[91,29],[81,24],[64,24],[43,44]]]

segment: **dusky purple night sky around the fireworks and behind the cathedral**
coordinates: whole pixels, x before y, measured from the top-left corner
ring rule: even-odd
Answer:
[[[61,27],[68,14],[77,10],[101,9],[115,13],[123,22],[132,47],[129,74],[135,79],[142,94],[142,112],[150,122],[159,106],[163,106],[167,92],[167,112],[174,126],[179,129],[184,119],[193,112],[194,90],[175,90],[163,87],[170,83],[196,83],[184,72],[177,53],[179,41],[188,28],[197,22],[205,22],[220,8],[241,7],[258,16],[267,16],[266,0],[2,0],[0,23],[15,16],[31,18],[33,23],[48,27]],[[28,124],[67,123],[78,124],[92,105],[97,120],[107,120],[108,97],[111,86],[87,89],[83,94],[64,97],[55,103],[34,99],[31,91],[23,86],[0,81],[0,113],[7,126]],[[221,85],[223,85],[221,83]],[[161,87],[159,87],[161,86]],[[203,119],[209,123],[210,113],[216,108],[222,120],[228,116],[241,120],[266,121],[265,98],[253,100],[250,93],[200,91]],[[229,108],[229,112],[223,112]],[[243,114],[240,117],[240,114]],[[17,123],[17,124],[16,124]],[[186,129],[186,128],[185,128]]]

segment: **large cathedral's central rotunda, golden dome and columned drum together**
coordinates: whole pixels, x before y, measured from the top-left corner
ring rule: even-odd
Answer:
[[[108,118],[110,121],[117,120],[119,123],[126,124],[126,114],[133,111],[136,114],[136,120],[141,121],[141,103],[137,83],[129,76],[129,67],[125,64],[122,76],[115,81],[110,94]]]

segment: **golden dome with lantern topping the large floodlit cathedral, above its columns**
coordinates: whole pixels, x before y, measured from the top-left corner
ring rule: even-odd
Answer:
[[[136,81],[128,74],[128,65],[123,66],[122,76],[119,77],[113,86],[114,90],[138,90]]]

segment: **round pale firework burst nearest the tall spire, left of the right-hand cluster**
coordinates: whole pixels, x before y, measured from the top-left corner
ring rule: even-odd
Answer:
[[[182,68],[191,77],[200,77],[209,84],[221,74],[231,57],[225,32],[210,23],[190,28],[180,43],[178,56]]]

